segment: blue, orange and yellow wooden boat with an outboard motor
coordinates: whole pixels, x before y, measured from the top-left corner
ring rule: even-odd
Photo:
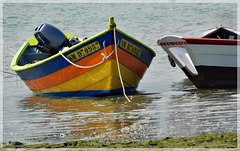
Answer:
[[[14,56],[11,68],[36,94],[122,93],[120,77],[125,91],[135,92],[155,56],[151,48],[116,29],[113,17],[108,29],[86,40],[48,24],[39,26],[34,35]]]

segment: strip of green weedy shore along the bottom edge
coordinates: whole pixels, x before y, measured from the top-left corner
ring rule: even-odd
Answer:
[[[60,144],[33,144],[25,145],[21,142],[3,144],[3,148],[237,148],[237,133],[199,134],[192,137],[172,138],[159,140],[104,142],[67,141]]]

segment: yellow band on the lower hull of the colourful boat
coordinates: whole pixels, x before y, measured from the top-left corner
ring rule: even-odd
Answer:
[[[125,87],[136,87],[141,78],[127,67],[120,65]],[[80,83],[81,81],[81,83]],[[116,60],[110,60],[97,68],[57,86],[34,91],[34,93],[53,93],[64,91],[114,90],[121,88]]]

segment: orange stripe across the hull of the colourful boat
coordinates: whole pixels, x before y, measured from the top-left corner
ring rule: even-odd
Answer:
[[[107,55],[109,55],[113,51],[113,49],[114,49],[114,45],[108,46],[106,48]],[[101,53],[105,54],[104,49],[75,62],[75,64],[78,64],[81,66],[90,66],[90,65],[97,64],[98,62],[102,61],[103,55],[101,55]],[[134,71],[136,74],[139,75],[139,77],[141,78],[143,77],[146,69],[148,68],[148,66],[145,63],[143,63],[133,55],[127,53],[126,51],[122,50],[121,48],[118,48],[118,57],[119,57],[119,62],[122,65]],[[109,60],[115,60],[115,59],[116,58],[114,53],[105,62]],[[38,90],[47,89],[47,88],[59,85],[61,83],[64,83],[94,68],[95,67],[84,69],[84,68],[75,67],[73,65],[69,65],[47,76],[34,79],[34,80],[24,81],[24,82],[29,87],[29,89],[33,91],[38,91]]]

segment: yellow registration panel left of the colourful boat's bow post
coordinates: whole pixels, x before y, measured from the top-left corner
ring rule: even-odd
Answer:
[[[71,61],[74,62],[76,60],[79,60],[97,50],[99,50],[101,47],[99,45],[99,43],[97,41],[77,50],[74,51],[73,53],[70,53],[69,55],[67,55],[67,58]]]

